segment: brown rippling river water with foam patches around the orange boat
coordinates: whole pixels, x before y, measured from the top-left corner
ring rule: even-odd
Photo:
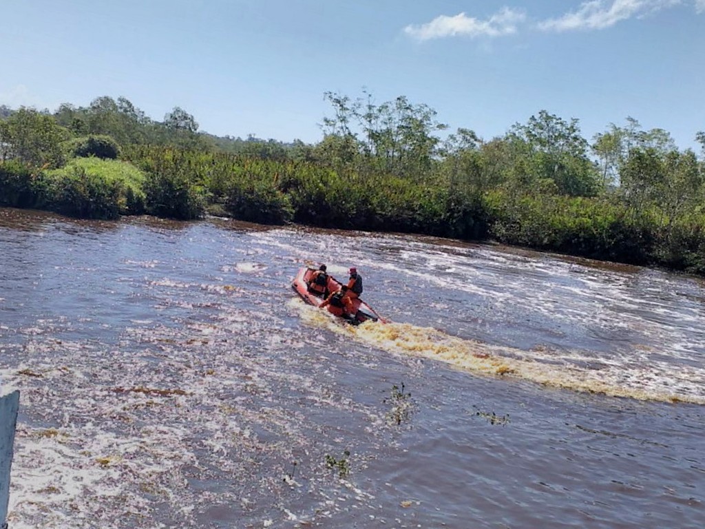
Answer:
[[[326,262],[389,324],[290,289]],[[705,284],[421,236],[0,209],[11,529],[705,527]]]

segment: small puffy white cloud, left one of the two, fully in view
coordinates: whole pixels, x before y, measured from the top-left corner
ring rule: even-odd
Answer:
[[[703,0],[705,1],[705,0]],[[517,32],[517,25],[526,16],[521,11],[502,8],[487,20],[466,16],[460,13],[456,16],[441,15],[431,22],[422,25],[407,25],[404,32],[418,40],[440,39],[465,35],[467,37],[501,37]]]

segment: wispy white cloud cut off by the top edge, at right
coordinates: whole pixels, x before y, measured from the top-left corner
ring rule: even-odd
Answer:
[[[696,0],[697,8],[705,0]],[[641,17],[677,6],[681,0],[591,0],[580,4],[577,11],[538,24],[544,31],[603,30],[622,20]]]

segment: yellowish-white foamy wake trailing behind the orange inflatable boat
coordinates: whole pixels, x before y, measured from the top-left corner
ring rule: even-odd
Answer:
[[[661,363],[646,369],[640,363],[630,365],[628,358],[596,360],[580,351],[522,351],[405,323],[366,322],[353,327],[302,302],[297,301],[296,305],[309,324],[390,353],[438,360],[476,375],[524,379],[546,387],[644,401],[705,405],[704,374],[696,368],[675,370],[670,364]]]

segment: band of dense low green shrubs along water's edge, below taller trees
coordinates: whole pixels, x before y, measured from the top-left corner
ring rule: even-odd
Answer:
[[[249,159],[232,159],[232,166],[201,175],[203,167],[182,162],[179,157],[147,162],[90,157],[53,171],[4,162],[0,205],[76,219],[148,214],[195,220],[215,214],[264,225],[496,241],[705,276],[705,217],[666,223],[657,209],[630,209],[609,196],[515,196],[506,190],[477,195],[399,178],[360,178],[318,166]]]

